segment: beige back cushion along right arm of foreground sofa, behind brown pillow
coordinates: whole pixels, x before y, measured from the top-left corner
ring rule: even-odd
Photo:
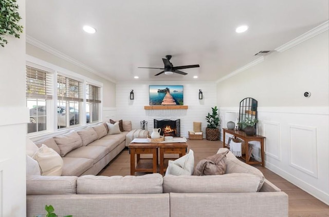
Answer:
[[[226,150],[227,148],[220,148],[217,153],[223,153],[226,152]],[[262,188],[265,180],[263,173],[259,169],[240,161],[231,153],[231,151],[226,154],[226,173],[251,173],[258,176],[261,180],[258,186],[258,191]]]

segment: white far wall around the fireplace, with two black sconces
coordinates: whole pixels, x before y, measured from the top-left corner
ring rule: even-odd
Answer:
[[[149,105],[149,85],[183,85],[184,105],[187,110],[144,110]],[[202,89],[204,99],[198,99],[199,89]],[[134,90],[135,99],[130,100],[130,91]],[[134,82],[118,83],[116,85],[116,115],[111,118],[131,120],[133,128],[140,128],[140,122],[148,121],[148,130],[152,131],[153,119],[180,119],[180,136],[188,137],[193,131],[193,122],[202,122],[202,130],[206,131],[206,115],[211,107],[216,105],[215,82]],[[115,117],[114,117],[115,116]],[[205,134],[204,134],[205,136]]]

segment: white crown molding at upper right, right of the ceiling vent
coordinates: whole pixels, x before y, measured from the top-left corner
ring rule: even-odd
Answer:
[[[321,34],[322,32],[324,31],[327,31],[329,29],[329,21],[325,21],[323,24],[315,27],[314,29],[312,30],[309,30],[308,32],[305,32],[304,34],[298,36],[297,38],[287,42],[286,44],[278,47],[275,49],[275,51],[278,51],[278,52],[284,52],[290,48],[293,48],[295,47],[296,45],[299,45],[301,44],[302,42],[316,36],[316,35],[319,35]]]

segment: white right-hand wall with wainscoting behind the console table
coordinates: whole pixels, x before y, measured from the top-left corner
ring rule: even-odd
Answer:
[[[329,37],[325,31],[217,83],[221,114],[258,100],[265,166],[329,204]],[[238,87],[238,88],[237,88]],[[309,91],[311,97],[303,93]],[[224,120],[226,123],[226,121]],[[225,126],[226,127],[226,126]],[[254,143],[259,156],[259,144]]]

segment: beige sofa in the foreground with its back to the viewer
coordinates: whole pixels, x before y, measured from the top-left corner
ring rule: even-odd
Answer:
[[[226,156],[225,175],[27,176],[27,216],[49,204],[59,216],[288,216],[286,193]]]

